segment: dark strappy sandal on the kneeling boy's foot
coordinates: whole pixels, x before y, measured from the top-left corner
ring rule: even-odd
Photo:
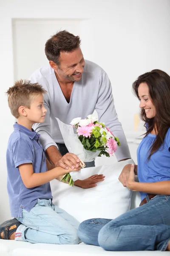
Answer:
[[[11,234],[16,232],[20,224],[21,224],[20,221],[18,221],[16,218],[13,218],[11,220],[5,221],[2,224],[0,224],[0,234],[1,232],[3,232],[3,237],[4,237],[2,238],[0,235],[0,239],[9,239]]]

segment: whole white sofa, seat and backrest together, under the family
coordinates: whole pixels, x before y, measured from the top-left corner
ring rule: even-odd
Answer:
[[[82,170],[82,178],[89,177],[94,173],[102,173],[106,176],[105,180],[99,182],[95,188],[81,189],[76,186],[70,187],[57,180],[52,181],[54,203],[74,215],[79,221],[88,218],[115,218],[130,208],[139,206],[139,193],[132,193],[118,180],[122,165],[132,163],[131,161]],[[0,239],[0,256],[159,256],[162,253],[170,255],[170,252],[160,251],[105,251],[101,247],[82,242],[77,245],[30,244]]]

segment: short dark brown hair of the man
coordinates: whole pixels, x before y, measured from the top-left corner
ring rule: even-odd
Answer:
[[[79,36],[75,36],[66,30],[53,35],[45,44],[45,55],[48,61],[54,61],[59,65],[60,52],[71,52],[80,46]]]

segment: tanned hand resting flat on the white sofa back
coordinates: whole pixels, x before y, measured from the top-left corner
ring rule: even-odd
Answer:
[[[97,186],[96,182],[102,181],[104,180],[104,178],[105,176],[103,176],[102,174],[96,174],[85,180],[76,180],[74,181],[74,185],[79,186],[82,189],[93,188],[94,186]]]

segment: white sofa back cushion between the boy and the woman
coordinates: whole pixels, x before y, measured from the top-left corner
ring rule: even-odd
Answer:
[[[107,166],[82,169],[82,179],[94,174],[105,175],[96,187],[82,189],[58,180],[51,181],[53,204],[82,222],[89,218],[116,218],[130,209],[132,192],[118,180],[123,167],[132,159]]]

